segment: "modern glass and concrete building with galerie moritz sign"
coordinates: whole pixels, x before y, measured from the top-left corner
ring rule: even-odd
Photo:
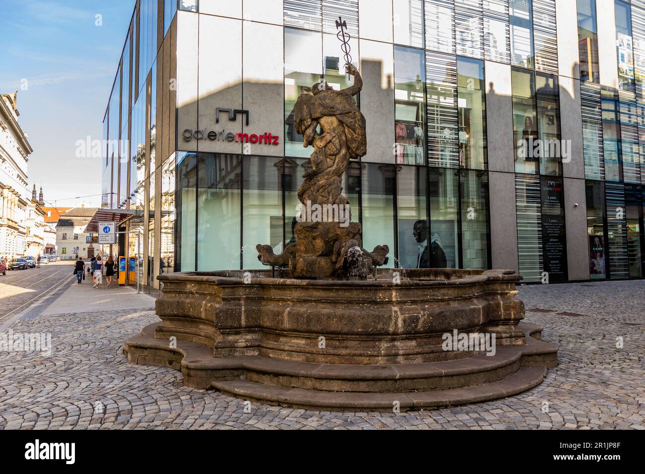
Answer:
[[[365,248],[415,267],[424,221],[430,266],[643,277],[645,0],[139,0],[96,219],[120,222],[112,252],[143,284],[261,268],[255,244],[292,239],[312,152],[293,105],[353,82],[339,16],[364,82],[344,194]]]

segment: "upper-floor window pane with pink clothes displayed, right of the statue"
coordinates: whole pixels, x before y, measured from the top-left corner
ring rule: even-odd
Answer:
[[[425,164],[424,51],[395,46],[394,72],[396,163]]]

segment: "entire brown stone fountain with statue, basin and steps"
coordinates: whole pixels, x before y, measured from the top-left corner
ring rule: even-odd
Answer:
[[[257,246],[280,276],[160,275],[161,322],[124,343],[128,361],[181,370],[187,386],[301,408],[438,408],[533,388],[557,366],[557,346],[522,322],[519,275],[379,268],[388,246],[362,248],[342,195],[342,174],[367,144],[353,100],[361,75],[348,73],[352,87],[317,83],[295,104],[297,131],[313,147],[295,243],[279,255]]]

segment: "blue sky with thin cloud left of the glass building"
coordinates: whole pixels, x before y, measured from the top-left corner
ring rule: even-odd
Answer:
[[[79,139],[103,138],[135,0],[0,0],[0,92],[18,90],[29,134],[29,190],[58,206],[99,206],[101,159],[77,158]],[[96,26],[101,15],[103,26]],[[25,84],[27,90],[21,90]],[[95,195],[84,199],[70,197]]]

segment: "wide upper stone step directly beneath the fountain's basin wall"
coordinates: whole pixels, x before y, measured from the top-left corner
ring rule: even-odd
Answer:
[[[495,382],[521,366],[557,364],[557,347],[526,338],[523,346],[499,346],[493,356],[485,353],[441,362],[406,364],[315,364],[272,357],[213,357],[210,348],[195,342],[155,339],[155,324],[124,346],[128,360],[138,364],[168,366],[184,373],[184,384],[208,388],[213,380],[244,379],[269,386],[319,391],[411,392],[448,390]],[[526,325],[528,333],[539,326]],[[555,364],[553,363],[555,360]]]

